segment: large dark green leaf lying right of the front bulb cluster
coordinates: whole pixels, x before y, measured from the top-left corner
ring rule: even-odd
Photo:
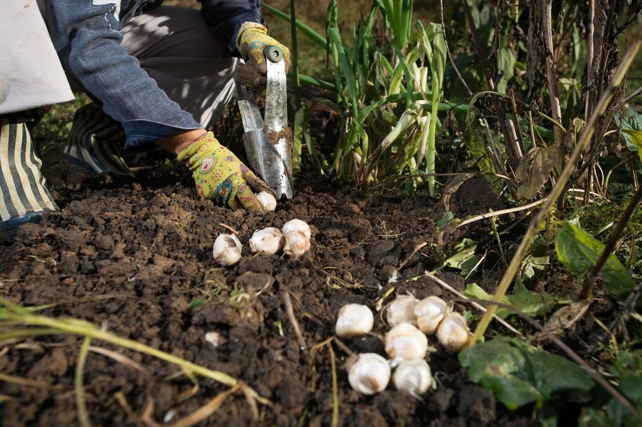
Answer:
[[[494,394],[509,409],[546,399],[559,393],[586,393],[593,379],[570,360],[537,349],[517,338],[498,337],[466,347],[459,362],[468,378]]]

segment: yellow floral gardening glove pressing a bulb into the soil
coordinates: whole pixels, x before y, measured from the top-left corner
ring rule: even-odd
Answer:
[[[185,162],[192,171],[198,195],[211,198],[221,206],[227,204],[235,210],[244,207],[263,212],[265,209],[252,190],[274,195],[274,191],[222,146],[212,132],[183,150],[178,161]]]

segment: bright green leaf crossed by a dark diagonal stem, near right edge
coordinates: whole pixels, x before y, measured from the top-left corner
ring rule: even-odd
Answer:
[[[575,274],[585,274],[597,262],[604,250],[604,245],[578,225],[566,222],[557,231],[555,251],[560,262]],[[613,254],[609,255],[602,267],[600,276],[606,290],[619,299],[624,299],[635,287],[629,270]]]

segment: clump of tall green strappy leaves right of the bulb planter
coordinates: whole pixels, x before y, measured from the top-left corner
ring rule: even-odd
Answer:
[[[300,153],[305,142],[318,169],[331,165],[335,175],[361,186],[401,173],[426,173],[434,195],[437,116],[456,106],[441,103],[446,67],[443,28],[412,24],[412,3],[374,1],[367,17],[352,28],[350,44],[338,28],[336,0],[327,8],[326,37],[297,21],[304,35],[327,50],[335,77],[334,84],[304,75],[299,76],[300,81],[335,92],[336,101],[315,98],[297,112],[294,152]],[[290,21],[290,15],[265,7]],[[377,20],[385,27],[383,46],[373,35]],[[342,119],[342,132],[329,162],[302,128],[317,103],[334,109]],[[297,159],[295,164],[299,164]],[[415,178],[415,182],[423,181]]]

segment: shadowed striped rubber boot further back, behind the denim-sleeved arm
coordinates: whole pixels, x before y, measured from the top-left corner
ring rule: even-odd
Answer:
[[[134,173],[117,150],[124,142],[123,126],[98,105],[87,104],[74,115],[63,158],[69,166],[91,177],[98,177],[101,173],[112,177],[131,177]]]

